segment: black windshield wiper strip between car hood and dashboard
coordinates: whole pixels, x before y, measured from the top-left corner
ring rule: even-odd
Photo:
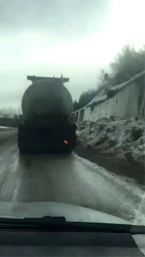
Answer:
[[[93,223],[93,222],[68,222],[65,217],[44,216],[41,218],[0,218],[0,230],[42,230],[42,231],[79,231],[101,233],[131,233],[145,234],[145,226]]]

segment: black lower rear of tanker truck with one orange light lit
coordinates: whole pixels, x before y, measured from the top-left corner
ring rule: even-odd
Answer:
[[[28,124],[18,126],[20,153],[70,153],[76,145],[76,124],[51,128],[34,128]]]

